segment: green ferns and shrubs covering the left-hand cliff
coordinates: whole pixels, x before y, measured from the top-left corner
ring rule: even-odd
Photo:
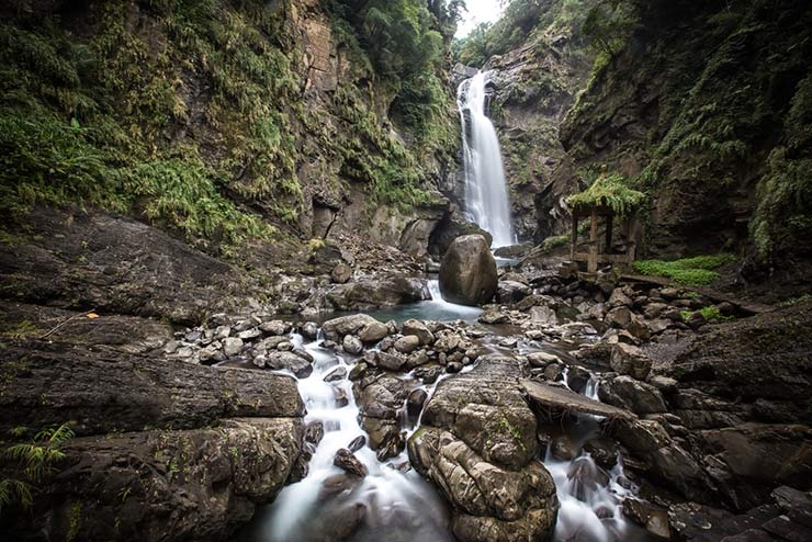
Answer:
[[[36,204],[99,206],[228,257],[297,224],[303,184],[337,185],[335,163],[379,202],[430,201],[422,157],[458,140],[441,80],[459,1],[328,2],[352,66],[316,108],[287,1],[136,3],[81,13],[81,32],[47,10],[0,24],[10,222]],[[314,156],[326,166],[303,178]]]

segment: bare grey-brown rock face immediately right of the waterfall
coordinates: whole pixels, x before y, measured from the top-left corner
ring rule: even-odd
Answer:
[[[492,103],[505,159],[514,223],[520,238],[541,242],[560,233],[562,199],[577,191],[559,124],[586,80],[587,56],[572,35],[546,32],[492,58]]]

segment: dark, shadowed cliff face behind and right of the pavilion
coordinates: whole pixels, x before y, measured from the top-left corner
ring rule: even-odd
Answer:
[[[580,168],[608,163],[647,191],[649,253],[737,249],[755,263],[748,278],[805,275],[812,10],[627,5],[633,32],[616,36],[622,47],[601,55],[562,125],[569,156]]]

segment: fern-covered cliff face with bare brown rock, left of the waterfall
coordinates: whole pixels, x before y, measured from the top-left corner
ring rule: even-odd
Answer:
[[[448,205],[433,189],[459,146],[450,93],[391,121],[405,86],[325,2],[19,1],[3,15],[10,221],[91,204],[215,256],[335,222],[420,252]],[[425,33],[448,32],[432,16]]]

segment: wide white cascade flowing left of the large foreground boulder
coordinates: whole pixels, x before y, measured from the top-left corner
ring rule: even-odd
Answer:
[[[444,504],[418,473],[402,468],[408,464],[405,451],[382,463],[372,449],[363,445],[356,452],[369,471],[362,479],[348,477],[332,464],[339,449],[366,434],[359,425],[359,407],[347,377],[357,360],[319,348],[316,342],[304,345],[296,334],[291,341],[314,359],[313,373],[298,380],[298,391],[307,406],[305,422],[320,421],[324,438],[309,461],[307,475],[282,489],[273,505],[260,509],[241,533],[240,542],[451,542]],[[341,376],[325,379],[334,372]],[[417,387],[431,394],[436,384]]]

